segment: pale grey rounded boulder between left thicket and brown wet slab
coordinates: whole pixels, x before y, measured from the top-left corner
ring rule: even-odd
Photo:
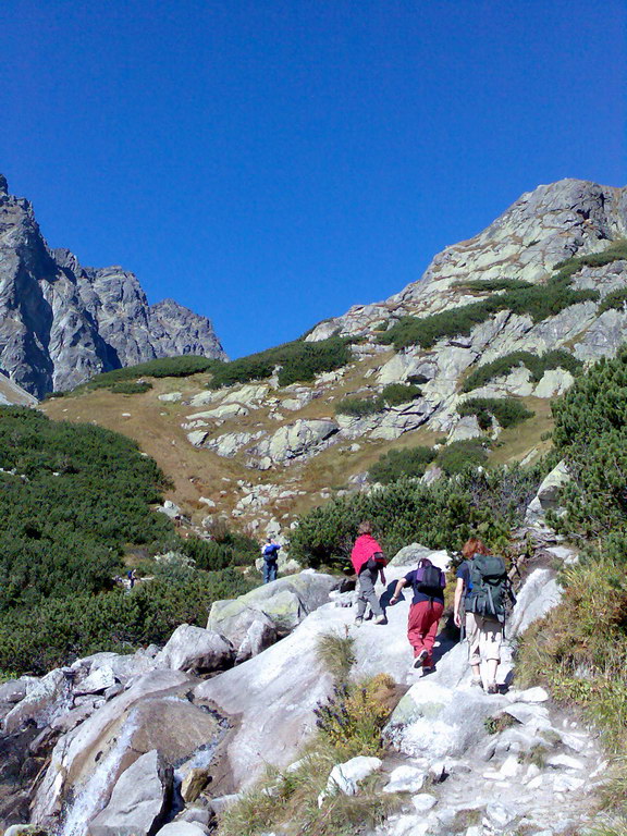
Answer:
[[[192,624],[182,624],[155,660],[157,667],[189,673],[208,673],[228,667],[233,646],[222,636]]]

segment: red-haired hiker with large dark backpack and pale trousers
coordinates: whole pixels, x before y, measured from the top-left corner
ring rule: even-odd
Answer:
[[[501,662],[505,597],[506,594],[512,597],[507,570],[503,560],[491,554],[485,544],[477,538],[467,540],[462,554],[465,560],[457,569],[455,624],[457,627],[464,624],[466,628],[472,685],[483,687],[481,678],[481,657],[483,656],[487,691],[499,693],[496,668]]]

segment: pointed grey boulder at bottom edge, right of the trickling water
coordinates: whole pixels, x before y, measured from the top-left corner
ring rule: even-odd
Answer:
[[[150,836],[163,821],[171,794],[172,767],[156,749],[146,752],[122,773],[88,836]]]

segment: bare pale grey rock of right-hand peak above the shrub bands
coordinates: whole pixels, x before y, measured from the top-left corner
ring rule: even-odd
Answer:
[[[390,317],[427,316],[464,304],[455,283],[465,279],[520,279],[541,283],[560,261],[603,250],[627,236],[627,187],[567,179],[521,195],[478,235],[445,247],[422,276],[390,298],[354,305],[321,322],[307,336],[315,342],[337,330],[372,332]],[[470,297],[469,297],[470,298]]]

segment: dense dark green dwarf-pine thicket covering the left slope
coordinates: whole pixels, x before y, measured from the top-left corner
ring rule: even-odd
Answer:
[[[150,507],[165,477],[123,435],[3,407],[0,467],[0,668],[41,674],[93,650],[164,641],[182,622],[204,623],[216,598],[249,588],[231,566],[253,562],[253,541],[177,536]],[[113,577],[128,545],[181,553],[198,570],[124,594]]]

